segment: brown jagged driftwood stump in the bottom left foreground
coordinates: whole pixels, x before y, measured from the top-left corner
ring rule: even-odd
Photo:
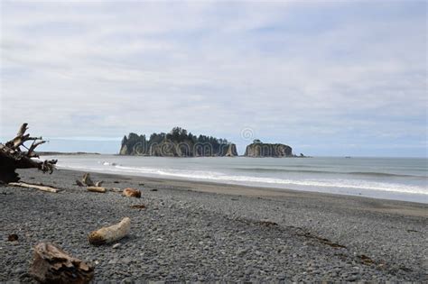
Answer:
[[[84,284],[94,277],[94,268],[51,243],[39,243],[30,274],[41,283]]]

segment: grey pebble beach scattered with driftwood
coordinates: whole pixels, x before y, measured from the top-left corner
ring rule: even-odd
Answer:
[[[78,170],[19,173],[63,190],[0,186],[0,281],[32,281],[40,242],[92,263],[95,281],[428,280],[427,204],[91,173],[107,188],[141,190],[131,198],[79,188]],[[126,216],[131,233],[120,245],[88,243]]]

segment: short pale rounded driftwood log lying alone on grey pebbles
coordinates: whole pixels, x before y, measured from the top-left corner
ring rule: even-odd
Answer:
[[[88,235],[88,241],[91,244],[100,245],[113,243],[129,234],[131,228],[131,219],[125,217],[120,223],[103,227]]]

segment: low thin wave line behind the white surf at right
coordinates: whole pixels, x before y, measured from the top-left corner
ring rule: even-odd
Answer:
[[[405,175],[405,174],[395,174],[395,173],[376,172],[376,171],[333,171],[333,170],[316,170],[316,169],[279,169],[279,168],[233,168],[233,169],[256,171],[256,172],[302,172],[302,173],[317,173],[317,174],[319,173],[319,174],[335,174],[335,175],[339,174],[339,175],[358,175],[358,176],[373,176],[373,177],[428,179],[428,176]]]

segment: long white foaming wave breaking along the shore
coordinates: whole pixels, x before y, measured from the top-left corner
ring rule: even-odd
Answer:
[[[209,170],[156,169],[146,167],[126,167],[121,165],[109,165],[107,167],[59,165],[59,167],[66,169],[84,169],[90,171],[109,172],[116,174],[136,174],[141,176],[163,177],[170,179],[205,180],[221,183],[241,184],[247,186],[266,186],[273,188],[349,188],[358,190],[376,190],[384,192],[388,191],[396,193],[428,195],[428,190],[423,187],[409,186],[396,183],[375,182],[360,179],[278,179],[245,175],[230,175],[222,172]]]

